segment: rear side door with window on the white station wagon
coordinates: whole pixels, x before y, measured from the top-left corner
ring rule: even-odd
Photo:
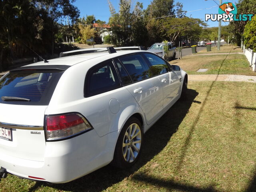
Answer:
[[[119,58],[130,75],[132,84],[125,88],[134,96],[151,124],[163,111],[163,90],[157,76],[152,77],[148,63],[141,54],[131,54]]]

